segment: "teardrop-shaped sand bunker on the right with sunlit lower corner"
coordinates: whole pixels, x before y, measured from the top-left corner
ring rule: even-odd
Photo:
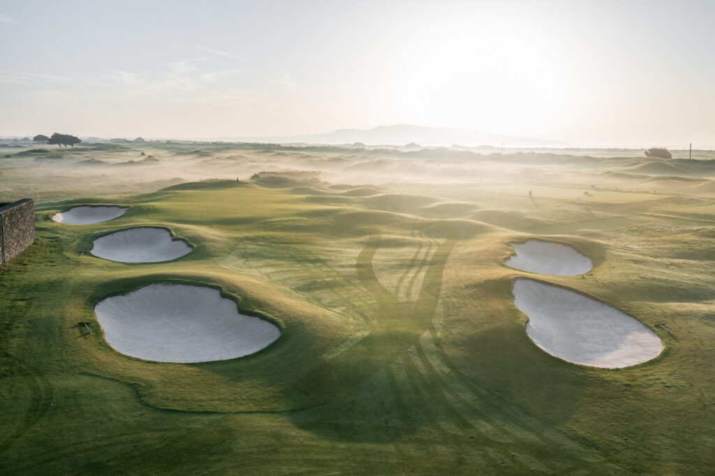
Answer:
[[[526,333],[549,354],[568,362],[614,369],[651,360],[661,339],[628,314],[561,287],[517,279],[514,304],[529,320]]]

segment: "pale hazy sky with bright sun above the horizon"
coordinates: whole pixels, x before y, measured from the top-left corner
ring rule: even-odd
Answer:
[[[715,145],[715,1],[0,0],[0,135]]]

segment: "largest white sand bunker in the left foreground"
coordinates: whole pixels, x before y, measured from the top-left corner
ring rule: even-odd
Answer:
[[[209,362],[253,354],[280,329],[238,312],[217,289],[149,284],[94,306],[109,345],[122,354],[158,362]]]

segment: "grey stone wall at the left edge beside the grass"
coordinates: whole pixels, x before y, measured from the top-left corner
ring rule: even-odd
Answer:
[[[35,241],[35,204],[21,199],[0,204],[0,263],[16,257]]]

